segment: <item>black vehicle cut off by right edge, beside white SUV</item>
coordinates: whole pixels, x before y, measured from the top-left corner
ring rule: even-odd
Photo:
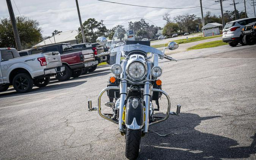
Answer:
[[[242,41],[244,44],[256,44],[256,22],[245,25],[245,27],[242,28],[242,37]]]

